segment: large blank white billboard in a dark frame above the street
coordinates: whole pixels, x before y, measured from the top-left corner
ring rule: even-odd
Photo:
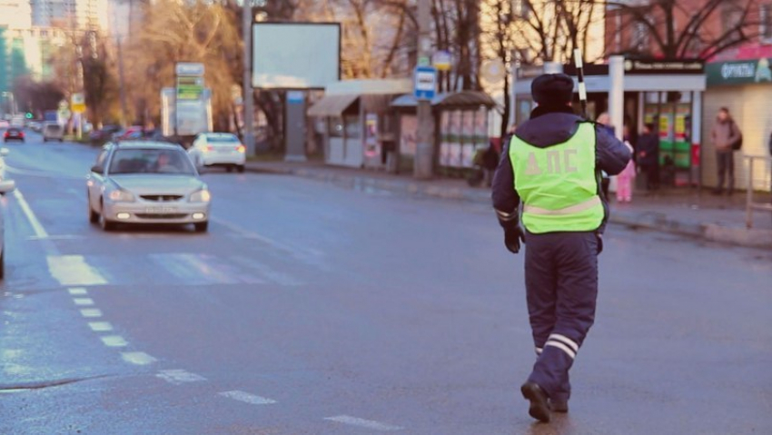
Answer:
[[[252,86],[323,89],[341,78],[341,26],[337,23],[252,25]]]

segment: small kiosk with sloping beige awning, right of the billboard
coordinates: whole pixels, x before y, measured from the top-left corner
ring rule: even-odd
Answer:
[[[325,163],[381,169],[397,148],[391,101],[412,89],[411,80],[347,80],[330,84],[308,110],[322,136]]]

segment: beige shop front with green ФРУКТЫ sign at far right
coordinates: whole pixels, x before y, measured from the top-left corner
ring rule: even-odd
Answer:
[[[748,183],[749,171],[742,156],[769,155],[768,143],[772,133],[770,64],[772,58],[758,58],[706,66],[708,91],[705,93],[703,134],[708,140],[705,141],[702,173],[702,182],[706,186],[715,186],[718,182],[715,146],[710,141],[710,129],[721,107],[729,109],[743,133],[742,150],[735,153],[735,185],[738,188],[743,189]],[[758,160],[753,169],[753,188],[769,192],[769,163]]]

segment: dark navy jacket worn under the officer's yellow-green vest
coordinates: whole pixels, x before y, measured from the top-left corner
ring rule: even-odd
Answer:
[[[518,127],[515,135],[533,146],[549,148],[568,141],[577,132],[580,122],[584,122],[584,118],[574,114],[568,106],[564,108],[538,106],[530,114],[530,120]],[[595,136],[596,169],[605,171],[609,175],[622,172],[632,157],[627,145],[619,142],[619,139],[611,135],[602,125],[595,126]],[[609,203],[600,193],[600,182],[598,192],[606,211],[606,217],[599,228],[599,232],[602,232],[609,217]],[[493,207],[502,213],[515,213],[519,205],[520,195],[515,190],[515,175],[510,161],[510,143],[505,143],[499,167],[493,177]]]

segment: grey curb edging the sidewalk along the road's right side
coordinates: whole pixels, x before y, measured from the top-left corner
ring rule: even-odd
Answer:
[[[490,204],[490,192],[487,190],[470,190],[464,188],[449,188],[412,181],[395,181],[371,178],[360,175],[324,173],[308,169],[282,169],[247,166],[251,173],[275,173],[294,175],[306,179],[334,183],[344,187],[360,190],[380,190],[391,193],[418,195],[446,200],[464,201],[469,203]],[[772,250],[772,231],[755,230],[740,227],[726,227],[716,223],[681,222],[668,219],[665,213],[628,213],[612,211],[609,223],[624,225],[628,228],[643,228],[657,232],[668,232],[680,236],[701,239],[708,242],[719,242]]]

